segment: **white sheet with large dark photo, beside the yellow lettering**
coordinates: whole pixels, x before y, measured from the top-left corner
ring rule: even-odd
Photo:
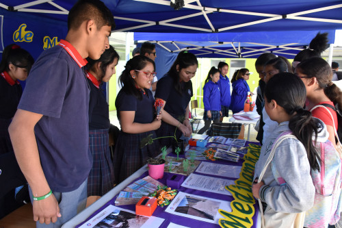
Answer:
[[[223,218],[218,213],[219,209],[231,212],[231,202],[179,192],[165,212],[218,224],[218,220]]]

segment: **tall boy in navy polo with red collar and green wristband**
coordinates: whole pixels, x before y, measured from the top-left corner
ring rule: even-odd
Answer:
[[[113,15],[102,1],[78,1],[68,14],[66,39],[40,55],[27,79],[9,131],[37,227],[61,227],[86,205],[92,157],[83,66],[109,47],[112,29]]]

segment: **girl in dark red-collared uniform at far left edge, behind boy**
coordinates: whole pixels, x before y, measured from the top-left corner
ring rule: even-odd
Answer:
[[[23,94],[20,81],[25,81],[34,58],[18,45],[8,45],[0,62],[0,154],[13,151],[8,126]]]

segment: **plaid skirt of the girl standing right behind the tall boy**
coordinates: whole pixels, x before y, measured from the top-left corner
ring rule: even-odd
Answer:
[[[114,188],[114,166],[109,151],[108,129],[89,130],[92,170],[88,176],[88,197],[103,196]]]

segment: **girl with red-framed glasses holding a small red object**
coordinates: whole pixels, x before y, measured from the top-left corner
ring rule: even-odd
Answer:
[[[157,142],[140,147],[142,139],[150,134],[157,138],[155,130],[161,125],[161,115],[155,115],[155,99],[149,90],[155,74],[155,62],[137,55],[127,62],[119,77],[123,87],[115,106],[121,131],[114,152],[114,172],[118,182],[144,166],[148,157],[159,154]]]

